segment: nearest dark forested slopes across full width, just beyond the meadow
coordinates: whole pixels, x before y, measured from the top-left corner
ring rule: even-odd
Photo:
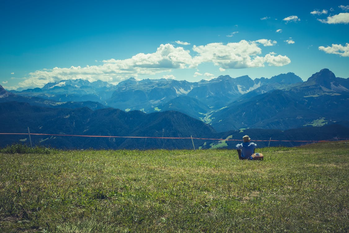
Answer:
[[[286,97],[285,97],[286,98]],[[56,148],[112,148],[112,149],[175,149],[193,148],[190,137],[241,139],[249,134],[255,140],[328,140],[335,137],[349,138],[349,129],[342,125],[303,127],[296,130],[246,129],[217,133],[211,126],[177,111],[125,112],[120,109],[60,109],[31,106],[28,103],[0,103],[1,133],[59,134],[62,136],[40,135],[31,137],[34,145],[50,145]],[[344,125],[346,123],[344,122]],[[113,136],[73,137],[64,135]],[[114,137],[119,136],[119,137]],[[124,137],[130,138],[124,138]],[[148,138],[133,138],[148,137]],[[155,138],[154,138],[155,137]],[[173,139],[173,138],[188,139]],[[0,147],[13,143],[29,144],[27,135],[0,135]],[[194,139],[195,147],[210,148],[217,140]],[[205,145],[204,145],[205,144]],[[266,143],[258,143],[259,146]],[[228,142],[233,148],[236,141]],[[276,144],[273,143],[275,146]],[[299,143],[280,142],[277,145],[295,146]]]

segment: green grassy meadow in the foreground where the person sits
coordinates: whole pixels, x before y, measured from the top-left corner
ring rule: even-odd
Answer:
[[[0,232],[349,231],[349,143],[257,152],[2,149]]]

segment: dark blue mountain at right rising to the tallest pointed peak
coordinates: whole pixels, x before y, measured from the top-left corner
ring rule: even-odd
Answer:
[[[349,79],[336,78],[328,69],[298,85],[248,97],[214,112],[211,125],[218,131],[231,126],[233,129],[292,129],[319,118],[329,123],[348,120]]]

